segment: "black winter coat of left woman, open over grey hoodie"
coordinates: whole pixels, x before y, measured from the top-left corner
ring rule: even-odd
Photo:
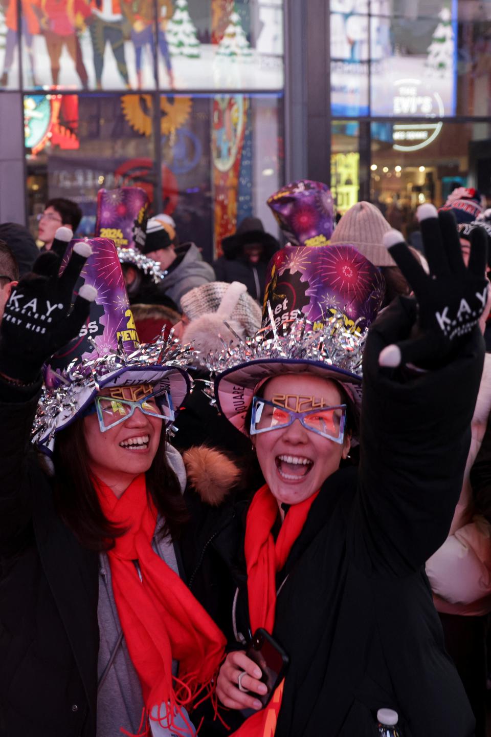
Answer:
[[[29,442],[38,392],[30,395],[0,380],[0,737],[95,737],[99,556],[54,509]],[[209,508],[189,497],[198,518],[177,543],[180,575],[199,571],[197,590],[226,626],[233,579],[208,542]],[[233,531],[235,508],[224,511],[221,530]]]

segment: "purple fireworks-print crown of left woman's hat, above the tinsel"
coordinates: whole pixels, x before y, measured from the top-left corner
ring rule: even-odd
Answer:
[[[71,241],[63,259],[62,271],[75,243],[81,240],[75,238]],[[97,297],[91,304],[91,313],[80,334],[54,355],[49,366],[45,367],[45,383],[49,388],[57,385],[59,372],[73,361],[78,363],[115,351],[119,338],[128,355],[138,347],[138,335],[114,243],[107,238],[92,238],[86,242],[91,245],[92,255],[85,262],[74,293],[77,295],[82,284],[90,284],[96,287]]]

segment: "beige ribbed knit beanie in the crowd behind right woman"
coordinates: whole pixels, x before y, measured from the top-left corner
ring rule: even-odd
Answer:
[[[395,266],[389,251],[382,245],[384,233],[392,230],[378,207],[357,202],[345,212],[331,237],[332,244],[349,244],[375,266]]]

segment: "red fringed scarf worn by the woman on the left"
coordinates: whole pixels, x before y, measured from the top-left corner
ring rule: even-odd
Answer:
[[[152,550],[157,512],[146,494],[144,474],[119,499],[98,479],[95,487],[107,520],[128,528],[107,555],[119,620],[146,710],[150,713],[163,703],[160,724],[177,731],[174,710],[182,713],[180,706],[189,708],[202,691],[211,692],[225,637],[177,573]],[[133,561],[138,561],[141,580]],[[179,662],[178,678],[172,676],[173,658]]]

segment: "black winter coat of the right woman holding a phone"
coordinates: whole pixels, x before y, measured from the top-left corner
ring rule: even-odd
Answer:
[[[365,351],[360,467],[325,481],[278,575],[273,635],[290,666],[275,737],[375,737],[384,707],[398,711],[404,737],[474,733],[424,565],[445,541],[459,499],[484,345],[476,330],[438,371],[381,370],[390,310]],[[234,520],[244,523],[244,509]],[[247,639],[242,544],[222,522],[207,550],[232,556],[238,592],[229,621]],[[199,571],[194,579],[196,587]],[[209,587],[195,593],[213,606]]]

